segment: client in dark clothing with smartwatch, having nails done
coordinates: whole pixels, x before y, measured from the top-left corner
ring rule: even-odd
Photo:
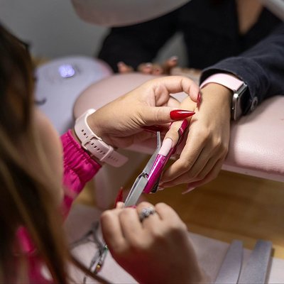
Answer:
[[[217,177],[229,149],[231,120],[251,113],[263,99],[284,94],[284,24],[261,1],[192,0],[151,21],[111,28],[98,57],[115,72],[165,75],[178,58],[162,65],[153,60],[178,32],[189,77],[200,77],[202,104],[180,158],[165,171],[160,187],[187,183],[190,191]],[[186,98],[182,108],[189,103]]]

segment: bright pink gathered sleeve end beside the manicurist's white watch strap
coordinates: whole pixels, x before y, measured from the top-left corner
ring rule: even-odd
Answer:
[[[91,180],[102,166],[84,151],[70,130],[61,136],[61,141],[64,155],[63,186],[65,187],[62,207],[63,213],[66,215],[86,182]]]

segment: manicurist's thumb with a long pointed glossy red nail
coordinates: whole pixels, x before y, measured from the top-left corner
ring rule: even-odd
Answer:
[[[183,120],[195,114],[187,109],[173,107],[146,107],[141,111],[145,126],[166,124],[168,122]]]

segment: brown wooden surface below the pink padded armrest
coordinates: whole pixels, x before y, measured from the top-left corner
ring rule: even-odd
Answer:
[[[274,256],[284,259],[284,183],[222,171],[207,185],[186,195],[183,190],[181,185],[145,197],[170,204],[194,233],[226,242],[240,239],[247,249],[256,239],[271,240]],[[92,192],[87,187],[78,202],[94,205]]]

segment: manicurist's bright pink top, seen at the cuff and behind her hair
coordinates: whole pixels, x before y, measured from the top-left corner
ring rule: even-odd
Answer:
[[[72,202],[80,194],[86,182],[91,180],[98,172],[101,165],[96,163],[82,149],[80,144],[73,138],[71,131],[63,134],[61,141],[64,153],[63,186],[65,187],[65,196],[62,200],[62,214],[66,217],[70,211]],[[28,256],[28,276],[30,283],[53,283],[52,280],[43,277],[41,273],[43,261],[38,257],[33,241],[26,228],[21,226],[16,235],[22,251]]]

